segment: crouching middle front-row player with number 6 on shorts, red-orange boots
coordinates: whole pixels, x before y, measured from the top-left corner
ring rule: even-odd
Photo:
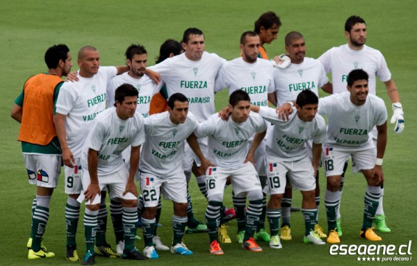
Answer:
[[[229,108],[231,115],[228,120],[214,114],[206,122],[199,124],[195,131],[197,138],[208,137],[210,148],[207,159],[213,163],[206,170],[206,222],[211,243],[210,253],[215,255],[224,253],[218,240],[218,226],[224,185],[228,177],[234,194],[246,194],[249,198],[242,247],[250,251],[262,251],[252,238],[259,224],[263,198],[261,181],[254,167],[254,152],[265,136],[266,123],[260,115],[250,113],[250,97],[244,90],[236,90],[230,94]],[[250,146],[249,140],[254,133],[258,134],[254,136]],[[192,146],[194,150],[195,146]],[[197,151],[197,156],[201,161],[206,160],[201,151]]]

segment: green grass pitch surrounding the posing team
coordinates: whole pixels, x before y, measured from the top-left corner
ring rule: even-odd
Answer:
[[[393,79],[400,90],[404,106],[406,127],[401,135],[393,134],[389,125],[389,144],[384,156],[386,190],[384,209],[389,217],[392,233],[381,233],[382,242],[399,247],[412,241],[411,253],[417,253],[416,225],[416,65],[413,52],[417,35],[415,13],[417,2],[406,1],[35,1],[15,0],[2,3],[0,8],[0,265],[70,265],[65,260],[65,200],[63,178],[51,202],[51,216],[44,242],[56,253],[50,260],[27,260],[26,240],[31,225],[31,202],[35,188],[28,185],[21,147],[16,141],[19,124],[10,118],[15,97],[22,90],[28,76],[44,72],[43,56],[52,44],[65,43],[72,52],[74,68],[76,53],[86,44],[99,49],[101,65],[123,65],[124,51],[131,43],[144,45],[148,51],[149,65],[158,54],[161,43],[167,38],[181,39],[183,31],[191,26],[201,28],[206,36],[206,51],[231,60],[240,53],[238,41],[243,31],[252,30],[259,15],[267,10],[275,11],[282,20],[279,38],[265,48],[270,56],[284,51],[284,36],[289,31],[300,31],[306,40],[306,56],[317,58],[330,47],[345,43],[343,25],[350,15],[360,15],[368,26],[367,44],[384,53]],[[386,101],[391,117],[391,103],[384,92],[384,85],[377,84],[377,92]],[[227,102],[227,93],[216,95],[219,109]],[[413,144],[414,143],[414,144]],[[325,178],[321,179],[322,197]],[[198,192],[195,181],[191,183],[195,213],[204,219],[206,201]],[[342,244],[372,244],[359,239],[363,210],[365,182],[362,176],[345,179],[343,190],[343,238]],[[226,192],[227,206],[231,206],[231,189]],[[300,206],[300,193],[294,192],[294,205]],[[163,202],[163,216],[159,234],[165,244],[172,238],[170,218],[172,204]],[[110,220],[110,218],[109,218]],[[111,222],[108,223],[111,226]],[[325,223],[324,202],[320,206],[320,224]],[[364,265],[377,262],[357,262],[357,256],[332,256],[329,244],[316,247],[302,244],[304,223],[300,213],[293,213],[293,240],[284,242],[281,250],[268,245],[262,253],[250,253],[238,244],[223,244],[225,256],[208,254],[206,234],[186,235],[185,242],[195,251],[194,256],[180,257],[159,252],[156,261],[138,262],[141,265]],[[114,244],[111,228],[108,241]],[[139,233],[141,233],[139,231]],[[236,236],[236,222],[230,223],[229,233]],[[80,222],[80,255],[84,252],[83,226]],[[136,246],[142,250],[143,243]],[[376,258],[377,256],[370,256]],[[408,258],[408,262],[391,262],[389,265],[417,265],[412,255],[379,256],[384,258]],[[97,258],[97,265],[132,265],[136,262]],[[384,264],[386,264],[384,262]]]

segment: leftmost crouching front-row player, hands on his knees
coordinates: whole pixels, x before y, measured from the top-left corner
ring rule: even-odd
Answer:
[[[108,186],[111,199],[123,206],[124,251],[122,258],[145,260],[134,247],[138,222],[138,191],[134,176],[138,171],[140,145],[145,141],[142,115],[136,113],[138,90],[123,84],[115,91],[115,107],[97,115],[90,127],[81,155],[81,180],[85,198],[84,228],[86,252],[83,265],[95,263],[95,234],[101,202],[100,191]],[[126,169],[122,151],[131,146],[130,170]]]

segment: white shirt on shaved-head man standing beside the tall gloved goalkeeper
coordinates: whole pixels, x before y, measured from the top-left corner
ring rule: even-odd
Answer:
[[[325,67],[313,58],[304,58],[301,64],[291,63],[285,69],[274,67],[277,106],[295,101],[303,90],[311,90],[318,96],[318,88],[329,82]]]

